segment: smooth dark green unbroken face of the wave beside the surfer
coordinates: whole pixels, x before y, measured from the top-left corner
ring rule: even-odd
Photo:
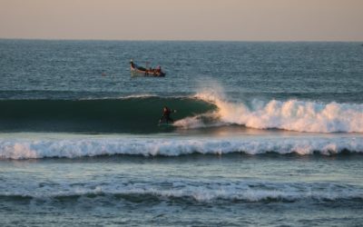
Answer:
[[[162,107],[171,106],[185,118],[215,108],[196,98],[152,95],[91,100],[1,100],[0,131],[154,133]]]

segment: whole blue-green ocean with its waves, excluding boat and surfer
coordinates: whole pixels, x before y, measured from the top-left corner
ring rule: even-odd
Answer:
[[[360,43],[0,40],[1,226],[360,226],[362,153]]]

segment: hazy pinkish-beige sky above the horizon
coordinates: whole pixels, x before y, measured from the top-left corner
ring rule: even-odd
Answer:
[[[0,38],[363,41],[363,0],[0,0]]]

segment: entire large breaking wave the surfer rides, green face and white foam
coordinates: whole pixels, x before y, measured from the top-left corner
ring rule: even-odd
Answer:
[[[162,107],[177,113],[174,127],[157,123]],[[302,100],[229,101],[221,93],[152,94],[85,100],[0,100],[0,132],[160,133],[240,125],[308,133],[363,133],[363,104]]]

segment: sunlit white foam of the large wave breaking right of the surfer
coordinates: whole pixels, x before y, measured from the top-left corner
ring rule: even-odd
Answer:
[[[363,104],[271,100],[267,104],[254,101],[249,107],[243,103],[228,102],[223,95],[214,92],[202,92],[195,96],[218,106],[218,110],[212,114],[220,123],[309,133],[363,133]],[[206,124],[198,117],[189,117],[175,125],[191,128]]]

